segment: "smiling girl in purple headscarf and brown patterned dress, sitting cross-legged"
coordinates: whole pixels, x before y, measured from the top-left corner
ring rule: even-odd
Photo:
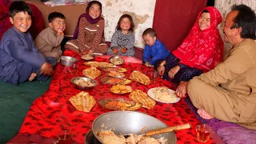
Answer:
[[[102,3],[91,1],[86,7],[86,14],[80,15],[73,39],[66,42],[65,48],[80,54],[106,54],[104,41],[104,18]]]

